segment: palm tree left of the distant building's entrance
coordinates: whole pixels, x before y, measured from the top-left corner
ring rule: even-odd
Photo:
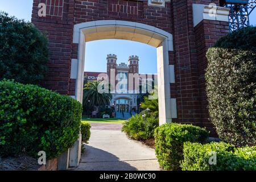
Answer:
[[[101,93],[100,90],[104,85],[100,81],[92,81],[85,84],[84,102],[89,106],[94,106],[97,110],[99,106],[106,106],[112,100],[112,94]]]

